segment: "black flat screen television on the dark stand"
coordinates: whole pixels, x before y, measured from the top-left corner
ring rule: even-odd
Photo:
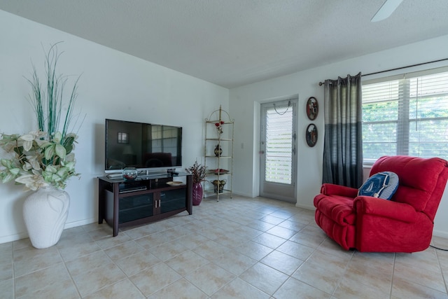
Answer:
[[[106,119],[106,173],[182,166],[182,127]]]

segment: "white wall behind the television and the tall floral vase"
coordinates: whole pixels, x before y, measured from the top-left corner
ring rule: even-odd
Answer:
[[[71,195],[66,228],[97,221],[96,177],[104,174],[105,118],[182,126],[185,168],[202,161],[204,119],[220,104],[228,109],[229,91],[217,85],[4,11],[0,28],[0,132],[36,129],[24,76],[31,74],[31,60],[43,71],[43,48],[64,41],[59,44],[64,51],[59,71],[73,78],[82,74],[76,109],[87,117],[75,150],[81,178],[71,179],[66,188]],[[0,243],[27,237],[22,220],[26,196],[21,186],[0,183]]]

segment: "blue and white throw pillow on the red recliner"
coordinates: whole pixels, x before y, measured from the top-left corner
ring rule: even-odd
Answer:
[[[370,176],[363,186],[360,186],[358,195],[366,195],[391,200],[398,188],[398,175],[395,172],[378,172]]]

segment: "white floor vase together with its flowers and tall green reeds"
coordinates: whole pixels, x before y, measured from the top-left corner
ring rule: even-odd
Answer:
[[[67,78],[55,73],[58,58],[55,44],[45,59],[46,86],[41,85],[36,68],[28,80],[38,130],[28,134],[0,134],[0,148],[6,152],[0,160],[2,183],[15,181],[25,185],[25,190],[35,191],[24,202],[23,216],[31,244],[38,249],[59,241],[70,204],[64,188],[71,176],[79,175],[73,153],[77,135],[69,133],[78,80],[65,99]],[[63,121],[62,127],[59,120]]]

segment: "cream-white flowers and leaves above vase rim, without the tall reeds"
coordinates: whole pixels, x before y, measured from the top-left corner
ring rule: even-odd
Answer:
[[[0,134],[0,148],[10,156],[0,160],[2,183],[15,181],[25,185],[25,190],[37,190],[45,186],[64,189],[66,181],[75,172],[75,154],[72,152],[76,134],[62,136],[56,132],[48,136],[46,132],[29,134]]]

